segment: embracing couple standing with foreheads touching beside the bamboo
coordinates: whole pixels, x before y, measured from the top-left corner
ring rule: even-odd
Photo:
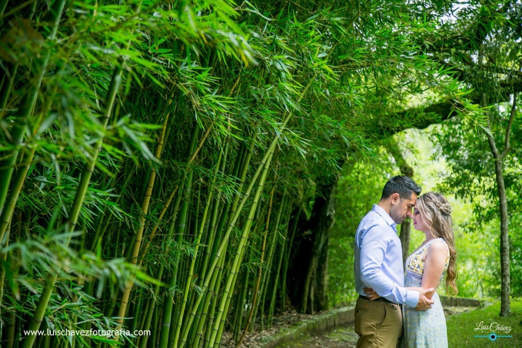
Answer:
[[[396,347],[401,334],[403,347],[448,346],[446,319],[436,288],[447,274],[446,288],[457,291],[451,207],[441,194],[429,192],[417,198],[420,192],[419,185],[408,177],[389,179],[381,200],[357,228],[358,348]],[[406,260],[405,277],[396,226],[409,216],[426,240]]]

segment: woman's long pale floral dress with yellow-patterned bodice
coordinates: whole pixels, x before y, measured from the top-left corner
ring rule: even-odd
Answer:
[[[424,274],[424,253],[428,247],[436,240],[444,241],[442,238],[434,238],[426,245],[412,253],[406,260],[406,287],[420,287],[422,283],[422,275]],[[447,247],[447,246],[446,246]],[[441,281],[448,269],[449,249],[446,265],[442,273]],[[409,306],[402,306],[402,318],[404,320],[404,332],[401,337],[401,347],[436,347],[442,348],[448,346],[448,338],[446,333],[446,318],[442,309],[441,299],[435,291],[432,299],[435,303],[431,309],[426,311],[418,311]]]

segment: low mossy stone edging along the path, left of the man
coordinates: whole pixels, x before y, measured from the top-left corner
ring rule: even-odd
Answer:
[[[333,309],[325,314],[319,315],[312,319],[302,321],[290,328],[285,328],[262,340],[263,348],[274,348],[288,342],[295,342],[303,337],[303,335],[319,334],[331,331],[336,327],[345,326],[354,322],[354,307],[343,307]]]

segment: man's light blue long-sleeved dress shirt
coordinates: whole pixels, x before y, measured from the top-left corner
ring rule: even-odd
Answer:
[[[419,292],[404,287],[402,249],[397,225],[377,204],[364,216],[355,233],[355,288],[366,296],[371,287],[382,297],[410,307],[419,302]]]

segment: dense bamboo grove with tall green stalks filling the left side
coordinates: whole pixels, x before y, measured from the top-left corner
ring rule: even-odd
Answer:
[[[0,11],[9,348],[218,347],[271,327],[317,178],[371,158],[408,95],[466,106],[410,40],[436,26],[399,1]]]

